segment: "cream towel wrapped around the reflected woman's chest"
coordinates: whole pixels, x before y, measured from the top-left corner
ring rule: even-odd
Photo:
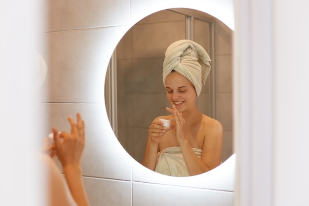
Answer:
[[[196,156],[201,159],[202,150],[197,148],[192,149]],[[154,171],[175,177],[190,176],[184,156],[179,146],[165,148],[159,152],[158,155],[158,162]]]

